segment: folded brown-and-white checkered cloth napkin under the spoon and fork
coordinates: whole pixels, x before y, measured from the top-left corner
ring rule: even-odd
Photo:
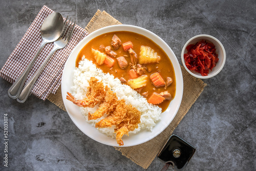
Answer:
[[[22,40],[19,41],[18,45],[6,61],[4,67],[1,69],[1,77],[13,83],[18,76],[22,74],[41,45],[41,25],[45,18],[53,12],[54,11],[49,9],[47,6],[42,7],[34,22],[25,33]],[[65,48],[55,52],[44,71],[42,71],[41,75],[37,79],[32,89],[33,95],[45,100],[50,93],[56,93],[58,87],[60,86],[62,71],[70,52],[74,49],[78,42],[88,34],[89,33],[86,30],[77,25],[75,26],[69,44]],[[26,82],[40,67],[42,62],[49,55],[52,48],[53,43],[50,43],[47,44],[44,49],[42,49],[28,75]]]

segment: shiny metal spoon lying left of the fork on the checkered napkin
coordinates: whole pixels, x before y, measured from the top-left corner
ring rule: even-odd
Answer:
[[[8,96],[12,99],[16,99],[27,79],[27,76],[37,58],[42,48],[50,42],[56,41],[63,31],[63,17],[59,12],[53,12],[50,14],[42,23],[41,26],[41,37],[42,43],[38,48],[35,56],[30,61],[27,68],[23,71],[23,73],[17,78],[17,80],[12,84],[11,88],[8,90]]]

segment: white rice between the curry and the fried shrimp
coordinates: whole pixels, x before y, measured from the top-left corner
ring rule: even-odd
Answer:
[[[126,104],[132,104],[138,111],[141,112],[141,123],[139,124],[138,129],[135,129],[130,133],[137,133],[143,129],[152,131],[153,127],[156,125],[156,122],[160,120],[162,109],[156,105],[148,103],[147,100],[135,90],[122,84],[118,78],[114,78],[114,76],[110,75],[109,73],[103,73],[102,70],[98,69],[93,62],[88,59],[81,60],[79,62],[79,67],[74,71],[74,86],[72,87],[72,95],[76,99],[83,99],[86,97],[87,87],[89,87],[88,80],[91,77],[95,77],[99,81],[102,80],[104,85],[108,85],[109,88],[116,93],[118,99],[124,99]],[[84,118],[86,118],[87,122],[92,124],[92,126],[95,126],[96,122],[105,117],[103,116],[97,120],[88,120],[88,113],[94,113],[98,108],[99,105],[96,105],[94,108],[80,107],[82,115]],[[114,126],[111,128],[99,129],[99,131],[107,134],[108,136],[115,137]]]

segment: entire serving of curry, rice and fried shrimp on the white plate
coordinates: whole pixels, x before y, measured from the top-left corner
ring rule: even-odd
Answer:
[[[92,39],[76,59],[73,92],[86,120],[123,145],[123,135],[151,131],[175,97],[172,62],[152,40],[133,32]]]

